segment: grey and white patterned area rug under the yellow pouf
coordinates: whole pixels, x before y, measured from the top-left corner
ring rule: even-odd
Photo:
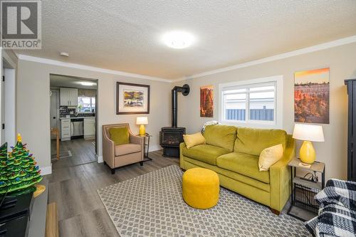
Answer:
[[[310,236],[302,221],[224,188],[214,208],[193,209],[182,174],[172,165],[99,189],[120,236]]]

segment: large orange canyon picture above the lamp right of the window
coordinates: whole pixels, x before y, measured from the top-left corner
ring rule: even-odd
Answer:
[[[295,122],[329,123],[330,68],[294,73]]]

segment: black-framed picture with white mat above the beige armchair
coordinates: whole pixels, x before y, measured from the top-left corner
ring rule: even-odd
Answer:
[[[116,114],[150,113],[150,85],[117,82]]]

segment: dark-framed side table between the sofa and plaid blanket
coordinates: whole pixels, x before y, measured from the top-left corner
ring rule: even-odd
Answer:
[[[301,221],[306,221],[299,216],[290,214],[293,206],[297,206],[300,209],[305,209],[318,214],[319,205],[315,201],[314,196],[318,194],[319,191],[324,189],[325,186],[325,164],[323,162],[314,162],[309,166],[304,166],[303,163],[298,158],[292,159],[288,166],[290,167],[290,178],[291,178],[291,188],[292,196],[291,203],[287,214]],[[316,173],[321,174],[321,181],[312,181],[308,179],[308,174],[305,177],[298,177],[295,174],[295,169],[300,168],[308,172],[310,177],[315,177]]]

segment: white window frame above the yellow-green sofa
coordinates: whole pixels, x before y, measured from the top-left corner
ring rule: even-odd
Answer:
[[[226,88],[244,88],[246,85],[275,83],[275,108],[274,121],[249,120],[249,102],[246,103],[246,121],[242,120],[224,120],[225,102],[223,92]],[[263,85],[261,85],[263,86]],[[246,93],[246,101],[249,101]],[[248,110],[248,111],[247,111]],[[219,122],[224,125],[235,125],[240,127],[260,127],[260,128],[283,128],[283,75],[273,75],[266,78],[256,78],[251,80],[239,80],[233,83],[219,84]]]

